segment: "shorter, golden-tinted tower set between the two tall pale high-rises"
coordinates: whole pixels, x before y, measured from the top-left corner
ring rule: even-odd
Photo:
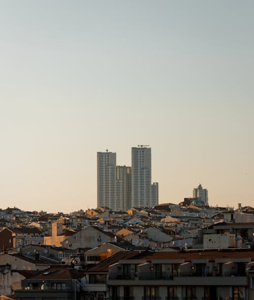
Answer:
[[[132,168],[126,166],[116,167],[117,194],[121,199],[121,210],[127,211],[132,207]]]

